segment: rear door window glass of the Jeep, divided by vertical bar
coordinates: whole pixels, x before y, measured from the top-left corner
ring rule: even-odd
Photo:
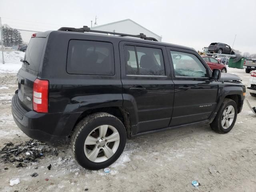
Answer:
[[[126,74],[164,76],[164,58],[162,50],[141,46],[124,47]]]

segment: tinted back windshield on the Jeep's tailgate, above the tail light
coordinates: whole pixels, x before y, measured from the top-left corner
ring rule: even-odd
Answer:
[[[26,48],[26,54],[24,56],[24,60],[26,60],[28,64],[23,63],[23,65],[31,69],[33,71],[38,72],[39,66],[42,58],[42,52],[44,49],[44,44],[46,42],[46,38],[31,38]]]

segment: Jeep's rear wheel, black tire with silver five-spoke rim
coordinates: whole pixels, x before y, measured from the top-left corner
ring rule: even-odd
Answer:
[[[100,134],[105,135],[104,138],[102,137],[103,140]],[[117,140],[118,135],[119,140]],[[109,142],[107,139],[116,140]],[[104,112],[91,114],[82,119],[76,125],[71,137],[71,150],[74,158],[80,166],[89,170],[99,170],[110,166],[120,157],[125,144],[124,124],[115,116]]]

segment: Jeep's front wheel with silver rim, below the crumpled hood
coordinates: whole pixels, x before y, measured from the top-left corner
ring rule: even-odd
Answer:
[[[234,118],[228,118],[229,116],[232,116]],[[213,122],[210,124],[210,127],[215,132],[218,132],[221,134],[228,133],[234,127],[234,124],[236,122],[236,117],[237,117],[236,102],[234,102],[234,100],[232,99],[225,98],[222,105],[220,106],[220,109],[216,117],[214,118]]]

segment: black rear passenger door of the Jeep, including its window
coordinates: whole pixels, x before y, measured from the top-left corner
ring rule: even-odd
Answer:
[[[132,120],[132,134],[169,125],[174,83],[164,46],[120,42],[124,107]]]

